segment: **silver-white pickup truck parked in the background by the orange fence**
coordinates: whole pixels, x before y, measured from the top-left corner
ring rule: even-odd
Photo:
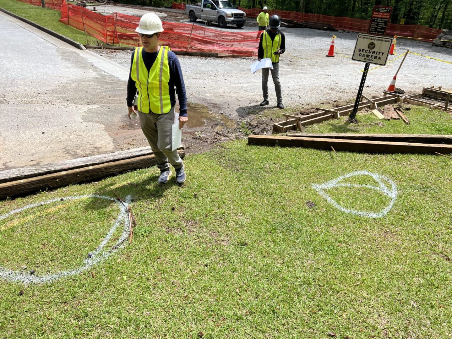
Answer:
[[[245,12],[236,9],[229,0],[202,0],[200,5],[186,5],[185,14],[191,22],[197,19],[217,22],[221,28],[226,28],[227,24],[242,28],[246,21]]]

